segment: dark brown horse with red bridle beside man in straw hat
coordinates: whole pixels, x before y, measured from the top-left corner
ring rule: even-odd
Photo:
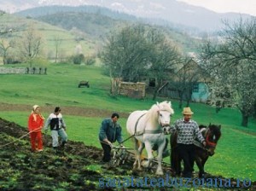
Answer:
[[[207,162],[209,156],[214,154],[214,150],[217,146],[218,139],[221,136],[221,125],[209,124],[209,126],[200,125],[199,126],[202,136],[207,142],[206,148],[204,148],[200,142],[195,140],[195,163],[199,168],[199,177],[204,177],[205,170],[204,166]],[[177,131],[171,135],[171,166],[172,170],[177,176],[181,174],[181,159],[177,154]]]

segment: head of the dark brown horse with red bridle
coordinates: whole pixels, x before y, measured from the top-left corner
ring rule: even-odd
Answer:
[[[209,124],[206,134],[205,134],[205,139],[207,142],[207,153],[212,156],[214,154],[215,148],[217,146],[218,139],[221,136],[221,125],[216,125],[216,124]]]

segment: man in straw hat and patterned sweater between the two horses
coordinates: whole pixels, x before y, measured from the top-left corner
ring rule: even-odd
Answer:
[[[195,137],[206,146],[204,137],[201,135],[198,124],[192,118],[193,112],[190,107],[183,108],[183,118],[177,119],[172,132],[177,130],[177,153],[183,159],[183,177],[192,177],[195,161]]]

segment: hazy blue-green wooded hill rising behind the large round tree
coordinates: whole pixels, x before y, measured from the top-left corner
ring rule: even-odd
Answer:
[[[131,25],[136,22],[144,23],[145,25],[148,25],[149,23],[149,25],[153,25],[158,27],[160,30],[165,31],[168,37],[177,45],[178,49],[185,53],[196,52],[196,46],[200,41],[199,39],[190,37],[186,32],[181,32],[178,29],[173,29],[169,26],[150,24],[150,21],[143,21],[143,19],[139,20],[133,18],[132,20],[128,20],[122,19],[119,16],[117,16],[117,18],[113,18],[113,16],[108,17],[101,14],[101,12],[91,14],[79,12],[79,10],[77,10],[73,12],[59,12],[55,14],[42,15],[35,19],[44,21],[45,23],[49,23],[53,26],[61,26],[67,31],[70,31],[73,28],[78,29],[80,32],[84,32],[90,37],[90,39],[94,39],[96,42],[102,42],[103,38],[115,29],[124,27],[125,25]]]

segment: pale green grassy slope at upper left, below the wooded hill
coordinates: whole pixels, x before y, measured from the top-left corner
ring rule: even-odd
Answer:
[[[0,38],[7,39],[8,41],[15,40],[16,42],[21,37],[22,32],[25,32],[27,26],[30,25],[32,25],[44,39],[42,47],[45,57],[55,56],[55,38],[61,40],[59,46],[59,56],[61,57],[67,58],[67,56],[73,55],[78,45],[81,47],[84,55],[94,55],[96,53],[97,42],[95,39],[86,35],[85,32],[82,32],[83,34],[80,35],[81,32],[79,33],[79,31],[74,29],[67,31],[57,25],[52,26],[42,21],[17,17],[13,14],[3,14],[0,16],[0,29],[4,29],[6,26],[13,29],[13,32],[1,35]]]

